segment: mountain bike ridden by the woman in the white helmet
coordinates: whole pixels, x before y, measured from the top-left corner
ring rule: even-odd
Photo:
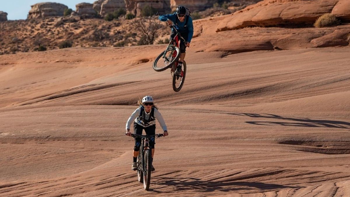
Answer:
[[[140,183],[144,183],[145,190],[148,191],[149,184],[151,183],[151,171],[152,171],[152,151],[148,147],[148,138],[161,137],[163,134],[156,135],[138,135],[131,134],[131,137],[140,137],[142,139],[139,156],[137,157],[137,179]]]

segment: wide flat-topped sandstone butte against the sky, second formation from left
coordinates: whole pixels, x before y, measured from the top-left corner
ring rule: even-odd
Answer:
[[[44,18],[47,16],[63,16],[64,10],[67,6],[58,3],[38,3],[31,6],[28,14],[28,19]]]

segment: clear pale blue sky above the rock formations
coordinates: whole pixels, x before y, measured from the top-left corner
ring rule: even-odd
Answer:
[[[6,12],[8,20],[27,19],[31,5],[41,2],[56,2],[75,10],[80,3],[93,3],[96,0],[0,0],[0,11]]]

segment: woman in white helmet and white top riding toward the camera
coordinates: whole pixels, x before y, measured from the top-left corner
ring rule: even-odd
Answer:
[[[140,105],[129,117],[126,122],[126,135],[131,136],[130,127],[133,124],[134,134],[142,135],[142,130],[145,130],[146,135],[155,135],[155,120],[157,119],[160,126],[162,127],[164,133],[163,136],[168,135],[167,125],[163,119],[162,114],[158,111],[158,108],[154,104],[154,100],[152,96],[145,96],[142,98],[142,102],[139,100],[138,104]],[[153,167],[153,156],[154,156],[154,144],[155,138],[149,138],[149,148],[152,151],[152,171],[154,171]],[[137,157],[139,155],[139,150],[141,146],[141,138],[135,138],[135,146],[133,151],[133,163],[131,164],[132,170],[137,170]]]

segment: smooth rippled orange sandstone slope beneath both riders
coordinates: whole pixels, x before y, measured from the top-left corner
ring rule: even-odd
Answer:
[[[163,47],[2,55],[0,196],[350,196],[349,47],[193,50],[179,93]],[[169,129],[150,191],[124,136],[144,95]]]

